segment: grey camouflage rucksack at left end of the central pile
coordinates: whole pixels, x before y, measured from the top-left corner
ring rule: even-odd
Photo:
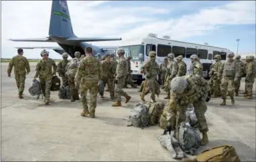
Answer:
[[[147,107],[142,103],[135,105],[135,107],[131,110],[129,121],[131,124],[127,125],[127,127],[131,125],[135,127],[141,127],[141,129],[144,127],[149,127],[150,121]]]

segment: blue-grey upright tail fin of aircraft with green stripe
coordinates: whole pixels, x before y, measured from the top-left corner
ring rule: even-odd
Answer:
[[[52,0],[49,35],[65,38],[75,37],[67,1]]]

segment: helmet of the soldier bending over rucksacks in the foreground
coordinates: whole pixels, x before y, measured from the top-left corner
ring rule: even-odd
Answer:
[[[174,93],[182,93],[186,87],[188,87],[188,82],[184,77],[174,77],[170,83],[170,88]]]

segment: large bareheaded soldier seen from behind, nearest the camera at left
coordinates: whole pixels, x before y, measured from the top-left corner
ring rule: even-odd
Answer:
[[[78,71],[75,76],[75,85],[78,87],[80,82],[80,95],[82,108],[84,109],[81,116],[90,114],[91,118],[95,117],[95,109],[97,107],[97,93],[99,90],[99,80],[102,79],[102,65],[96,58],[92,56],[92,47],[86,47],[84,57],[79,64]],[[86,95],[90,91],[90,107],[88,109]]]

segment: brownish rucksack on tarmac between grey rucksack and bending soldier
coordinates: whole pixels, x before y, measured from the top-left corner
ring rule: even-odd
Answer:
[[[156,103],[147,103],[146,106],[149,113],[150,125],[156,125],[159,123],[159,118],[164,111],[164,105],[165,103],[162,101],[158,101]]]

